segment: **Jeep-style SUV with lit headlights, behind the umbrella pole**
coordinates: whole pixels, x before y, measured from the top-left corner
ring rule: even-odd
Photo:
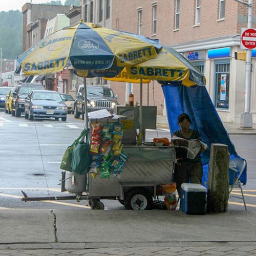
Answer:
[[[112,89],[103,86],[87,86],[87,106],[88,112],[106,109],[113,112],[114,106],[117,104],[117,95],[114,95]],[[74,117],[84,116],[84,94],[83,85],[79,86],[75,104]]]

